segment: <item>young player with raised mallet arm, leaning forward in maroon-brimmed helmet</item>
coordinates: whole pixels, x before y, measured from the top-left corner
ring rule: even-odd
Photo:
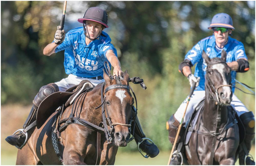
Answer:
[[[78,22],[83,23],[83,27],[72,29],[66,35],[65,31],[60,30],[61,27],[58,26],[54,35],[54,41],[44,48],[44,54],[47,56],[65,50],[64,67],[68,77],[40,88],[23,126],[24,129],[29,125],[31,126],[35,121],[39,104],[50,94],[57,91],[64,92],[85,79],[95,86],[104,82],[103,69],[105,61],[114,67],[114,76],[118,77],[123,74],[116,49],[111,44],[109,35],[103,32],[104,28],[108,28],[108,15],[106,11],[99,7],[90,7],[86,10],[84,17],[78,19]],[[146,136],[142,131],[138,118],[136,119],[137,129],[135,133],[141,139],[145,138]],[[32,126],[26,132],[28,137],[33,133],[35,124],[33,123]],[[24,129],[21,129],[23,132],[8,136],[5,140],[9,144],[21,149],[26,138]],[[141,139],[135,138],[136,143],[138,144]],[[157,146],[149,143],[147,140],[142,141],[139,147],[151,158],[156,157],[159,153]]]

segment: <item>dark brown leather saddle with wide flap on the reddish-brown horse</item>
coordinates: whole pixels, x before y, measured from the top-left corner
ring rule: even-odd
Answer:
[[[83,80],[80,82],[79,85],[69,88],[66,92],[55,92],[47,96],[38,107],[36,113],[36,127],[38,129],[42,127],[42,125],[45,123],[48,117],[52,113],[54,113],[59,106],[65,103],[71,95],[77,93],[81,89],[81,87],[83,87],[83,85],[87,82],[90,84],[87,84],[85,89],[91,88],[93,84],[91,84],[91,82],[88,80]],[[70,92],[70,89],[72,89],[73,92]]]

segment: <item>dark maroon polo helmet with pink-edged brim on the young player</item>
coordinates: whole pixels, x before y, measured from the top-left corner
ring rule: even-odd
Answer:
[[[107,12],[99,7],[90,7],[86,10],[84,18],[77,19],[78,22],[83,23],[84,20],[95,21],[108,28]]]

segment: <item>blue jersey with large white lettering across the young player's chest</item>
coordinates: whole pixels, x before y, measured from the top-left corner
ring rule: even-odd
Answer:
[[[74,28],[66,33],[65,40],[57,46],[55,53],[65,50],[64,67],[66,74],[78,77],[92,78],[103,77],[104,62],[110,62],[106,58],[108,50],[113,50],[117,56],[115,47],[111,44],[109,35],[102,32],[99,39],[86,45],[84,28]]]

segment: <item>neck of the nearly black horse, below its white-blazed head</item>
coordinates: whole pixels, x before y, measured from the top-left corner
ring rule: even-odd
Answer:
[[[221,113],[220,128],[222,128],[227,123],[227,106],[217,105],[216,101],[210,97],[209,90],[206,88],[202,120],[203,125],[209,131],[214,131],[216,129],[217,109],[219,109],[219,112]]]

